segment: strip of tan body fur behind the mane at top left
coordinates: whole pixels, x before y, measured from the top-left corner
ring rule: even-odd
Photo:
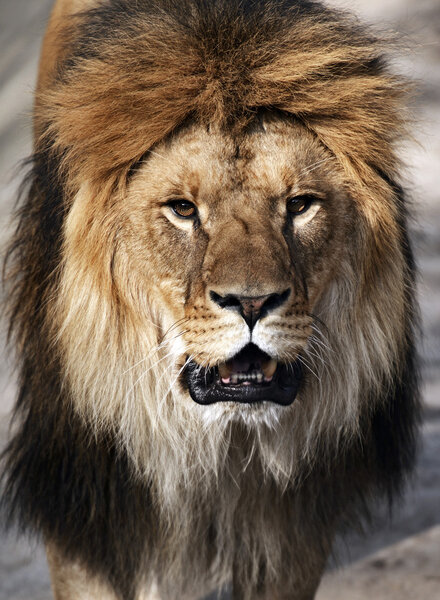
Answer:
[[[99,3],[100,0],[55,0],[41,49],[38,92],[45,91],[56,71],[56,65],[61,62],[66,51],[68,44],[66,45],[66,40],[60,35],[60,31],[68,21],[68,17],[89,10]]]

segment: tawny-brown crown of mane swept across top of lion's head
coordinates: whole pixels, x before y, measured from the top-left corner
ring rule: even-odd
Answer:
[[[69,171],[127,168],[188,118],[239,127],[276,108],[363,178],[378,166],[394,176],[404,87],[351,16],[298,0],[155,0],[112,2],[75,23],[38,115]]]

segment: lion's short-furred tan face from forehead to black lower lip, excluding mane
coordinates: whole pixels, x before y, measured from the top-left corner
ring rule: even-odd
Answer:
[[[122,211],[116,265],[156,304],[184,395],[290,404],[352,223],[328,151],[281,117],[239,139],[187,127],[138,166]]]

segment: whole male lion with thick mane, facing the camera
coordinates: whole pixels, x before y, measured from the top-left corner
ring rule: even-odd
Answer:
[[[399,494],[415,267],[386,42],[308,0],[57,0],[6,262],[10,522],[57,600],[311,600]]]

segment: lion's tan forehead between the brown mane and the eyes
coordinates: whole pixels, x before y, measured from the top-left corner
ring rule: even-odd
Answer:
[[[195,124],[149,153],[137,185],[148,185],[153,196],[165,188],[218,208],[266,201],[298,185],[335,187],[342,177],[334,163],[305,128],[282,118],[237,138]]]

